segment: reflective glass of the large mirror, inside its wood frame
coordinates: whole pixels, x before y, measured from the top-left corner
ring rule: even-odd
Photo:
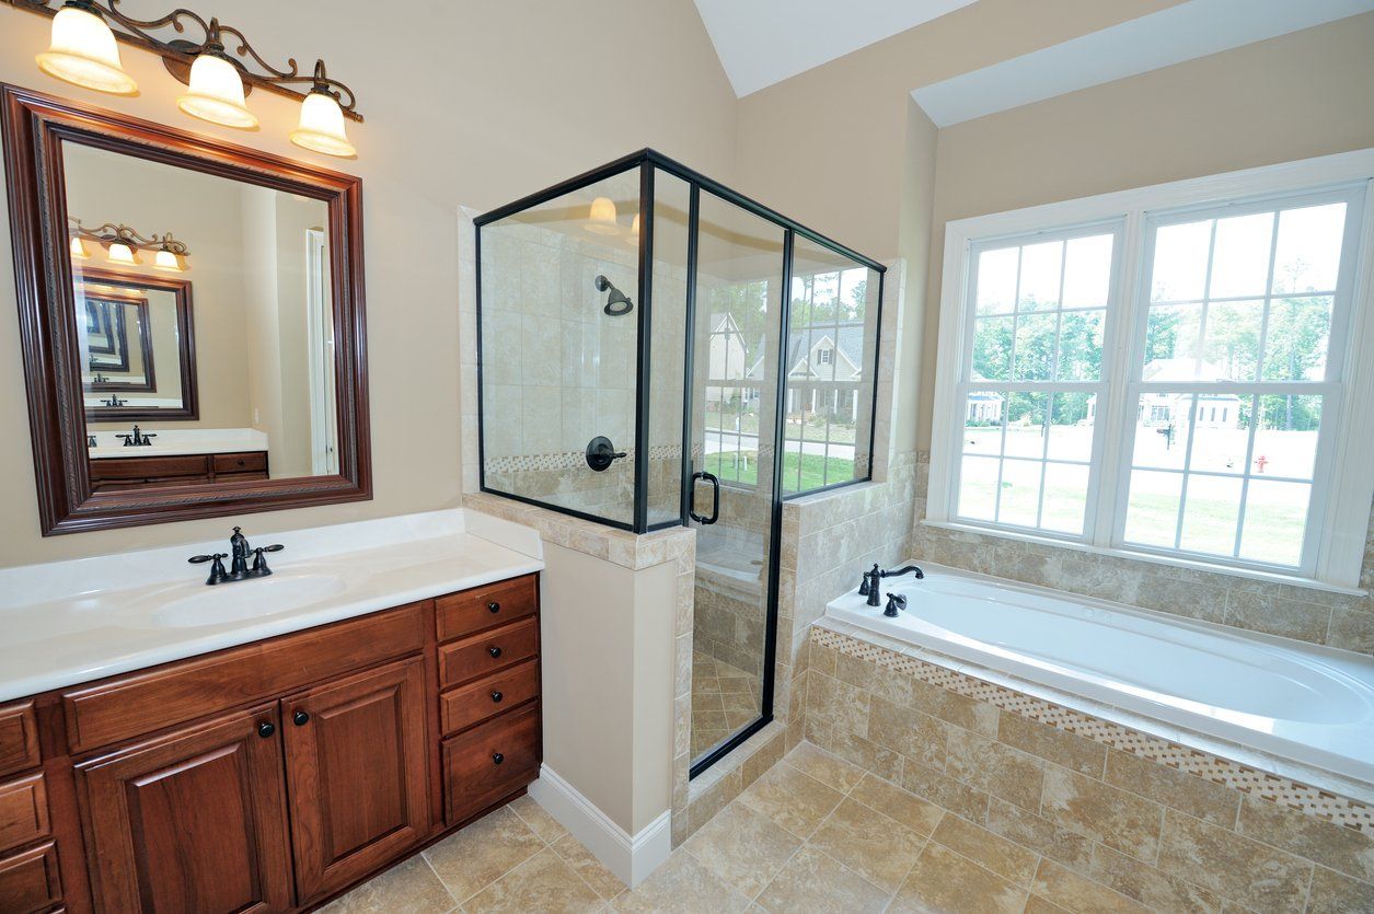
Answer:
[[[92,487],[337,474],[327,203],[62,158]]]

